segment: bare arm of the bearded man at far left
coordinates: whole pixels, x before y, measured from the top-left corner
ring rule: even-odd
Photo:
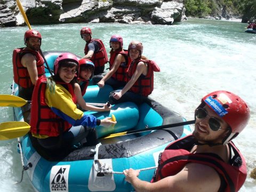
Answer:
[[[38,79],[35,55],[30,53],[25,54],[21,58],[21,65],[27,68],[31,82],[35,85]]]

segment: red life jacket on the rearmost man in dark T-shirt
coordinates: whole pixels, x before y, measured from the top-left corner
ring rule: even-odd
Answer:
[[[84,47],[84,54],[88,53],[88,44],[92,41],[96,41],[98,43],[99,51],[96,53],[94,52],[90,60],[94,63],[95,67],[103,66],[108,62],[108,54],[101,39],[91,39],[90,42],[86,43]]]

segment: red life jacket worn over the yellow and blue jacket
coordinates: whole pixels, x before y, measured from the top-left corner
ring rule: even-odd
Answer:
[[[66,83],[58,83],[66,84]],[[76,103],[74,89],[71,84],[66,84],[68,91],[72,95],[72,100]],[[72,126],[67,121],[53,113],[45,102],[46,78],[39,78],[36,82],[31,101],[30,132],[34,134],[57,137],[62,132],[68,131]]]

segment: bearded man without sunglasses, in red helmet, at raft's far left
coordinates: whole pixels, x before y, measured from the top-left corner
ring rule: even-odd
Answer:
[[[44,59],[39,53],[42,36],[36,30],[27,30],[24,35],[26,47],[13,51],[14,82],[19,85],[19,97],[31,100],[38,77],[44,76]],[[29,122],[30,105],[22,106],[24,120]]]

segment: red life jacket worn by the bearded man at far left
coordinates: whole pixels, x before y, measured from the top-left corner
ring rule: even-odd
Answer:
[[[31,53],[35,55],[36,68],[37,68],[37,74],[38,74],[37,76],[38,77],[44,76],[44,73],[45,73],[44,59],[41,56],[41,54],[39,54],[38,51],[26,50],[26,49],[24,50],[23,48],[13,50],[12,63],[13,63],[14,82],[23,88],[29,88],[33,86],[33,83],[31,82],[27,68],[23,67],[21,64],[21,58],[26,53]]]

